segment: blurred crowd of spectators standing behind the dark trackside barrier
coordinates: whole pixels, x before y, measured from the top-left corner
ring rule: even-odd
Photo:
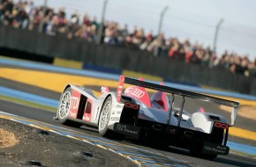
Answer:
[[[247,55],[228,53],[225,51],[217,56],[210,47],[200,43],[192,44],[189,40],[166,38],[163,33],[154,36],[153,32],[145,33],[142,28],[134,26],[132,31],[128,25],[119,25],[114,21],[101,23],[97,18],[86,14],[82,19],[77,11],[67,18],[65,9],[58,11],[34,5],[32,1],[0,0],[0,25],[11,25],[15,28],[38,31],[48,35],[66,35],[68,39],[82,39],[88,42],[102,41],[105,45],[127,47],[147,51],[157,56],[185,63],[195,63],[210,68],[222,68],[245,76],[256,76],[256,59],[254,62]],[[102,30],[102,33],[99,33]],[[99,34],[102,34],[100,36]],[[100,39],[99,39],[100,38]]]

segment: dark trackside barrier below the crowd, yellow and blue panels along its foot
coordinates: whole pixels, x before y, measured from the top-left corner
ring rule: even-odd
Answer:
[[[168,57],[155,57],[138,50],[97,45],[82,39],[68,40],[65,35],[53,37],[36,31],[0,26],[1,48],[29,53],[20,58],[45,60],[58,66],[125,73],[129,76],[145,75],[147,79],[207,85],[256,95],[256,87],[253,86],[256,79],[253,77],[235,75],[225,69],[186,64]],[[16,57],[19,58],[19,55]]]

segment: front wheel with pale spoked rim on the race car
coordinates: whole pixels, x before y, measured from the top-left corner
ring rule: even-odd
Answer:
[[[69,87],[64,91],[60,98],[56,117],[64,125],[72,127],[81,127],[81,123],[68,120],[68,115],[71,107],[71,98],[72,89]]]

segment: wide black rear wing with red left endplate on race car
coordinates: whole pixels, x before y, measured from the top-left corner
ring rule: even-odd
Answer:
[[[231,100],[227,100],[227,99],[223,99],[223,98],[215,98],[212,96],[204,95],[204,94],[193,92],[193,91],[184,91],[184,90],[180,90],[177,88],[172,88],[172,87],[164,86],[164,85],[160,85],[160,84],[148,83],[145,81],[140,81],[140,80],[133,79],[130,77],[125,77],[125,76],[120,76],[120,78],[119,78],[119,84],[117,87],[117,102],[120,102],[124,84],[132,84],[132,85],[148,88],[148,89],[155,90],[155,91],[169,92],[171,94],[171,98],[170,98],[171,105],[169,108],[169,114],[171,114],[170,111],[172,110],[172,104],[174,102],[174,95],[181,96],[182,100],[181,100],[180,111],[179,111],[178,127],[180,126],[180,121],[182,119],[185,97],[197,98],[201,101],[214,102],[218,105],[226,105],[226,106],[233,107],[233,111],[231,113],[230,126],[234,126],[235,121],[237,119],[239,102],[231,101]],[[169,118],[170,118],[170,115],[169,115]]]

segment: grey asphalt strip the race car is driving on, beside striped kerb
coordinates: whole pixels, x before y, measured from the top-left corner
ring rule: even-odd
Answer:
[[[47,111],[34,109],[32,107],[28,107],[26,105],[18,105],[13,104],[8,101],[0,100],[0,111],[3,111],[5,113],[12,113],[15,115],[19,115],[28,119],[32,120],[39,120],[41,122],[46,122],[52,125],[56,125],[58,127],[65,127],[70,128],[75,131],[79,131],[85,134],[99,136],[99,134],[94,130],[88,130],[82,128],[75,128],[75,127],[66,127],[58,123],[57,120],[53,120],[52,118],[55,116],[55,113],[50,113]],[[166,150],[159,150],[159,149],[153,149],[153,148],[147,148],[146,146],[140,146],[138,144],[135,144],[133,142],[129,141],[123,141],[121,142],[123,144],[129,144],[133,147],[141,148],[141,149],[147,149],[154,153],[159,153],[164,156],[174,157],[178,160],[182,160],[186,163],[188,163],[191,166],[209,166],[209,167],[216,167],[216,166],[255,166],[256,160],[250,159],[245,156],[237,156],[234,154],[230,154],[229,156],[218,156],[215,161],[208,161],[204,159],[200,159],[197,157],[192,157],[188,154],[186,150],[181,149],[174,149],[169,148]]]

